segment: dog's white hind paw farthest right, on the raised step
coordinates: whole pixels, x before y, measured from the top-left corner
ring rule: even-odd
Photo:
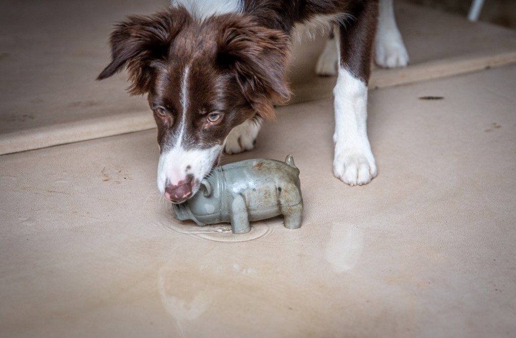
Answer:
[[[409,54],[398,31],[389,32],[376,40],[375,62],[383,68],[405,67]]]

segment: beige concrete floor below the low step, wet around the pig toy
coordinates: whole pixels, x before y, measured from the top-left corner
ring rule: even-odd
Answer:
[[[255,150],[224,161],[292,153],[297,230],[176,221],[155,186],[154,130],[0,156],[0,335],[513,337],[506,63],[371,89],[379,175],[362,187],[332,175],[330,98],[278,108]]]

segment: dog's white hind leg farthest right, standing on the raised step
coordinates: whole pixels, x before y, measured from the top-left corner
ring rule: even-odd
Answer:
[[[405,67],[409,63],[407,49],[394,19],[392,2],[393,0],[380,0],[376,35],[375,62],[385,68]]]

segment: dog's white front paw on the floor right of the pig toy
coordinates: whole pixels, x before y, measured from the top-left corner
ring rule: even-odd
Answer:
[[[333,159],[333,174],[350,186],[371,182],[377,175],[373,153],[353,150],[337,151]]]

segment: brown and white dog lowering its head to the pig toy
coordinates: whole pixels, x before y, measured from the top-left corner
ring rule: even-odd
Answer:
[[[386,4],[392,12],[392,0]],[[148,94],[158,130],[158,189],[180,203],[197,192],[224,148],[252,149],[261,121],[274,119],[273,106],[289,99],[294,27],[335,27],[333,170],[347,184],[366,184],[377,174],[366,107],[378,9],[378,0],[172,0],[167,10],[117,26],[112,61],[99,79],[126,68],[130,93]],[[394,54],[393,66],[408,60]]]

